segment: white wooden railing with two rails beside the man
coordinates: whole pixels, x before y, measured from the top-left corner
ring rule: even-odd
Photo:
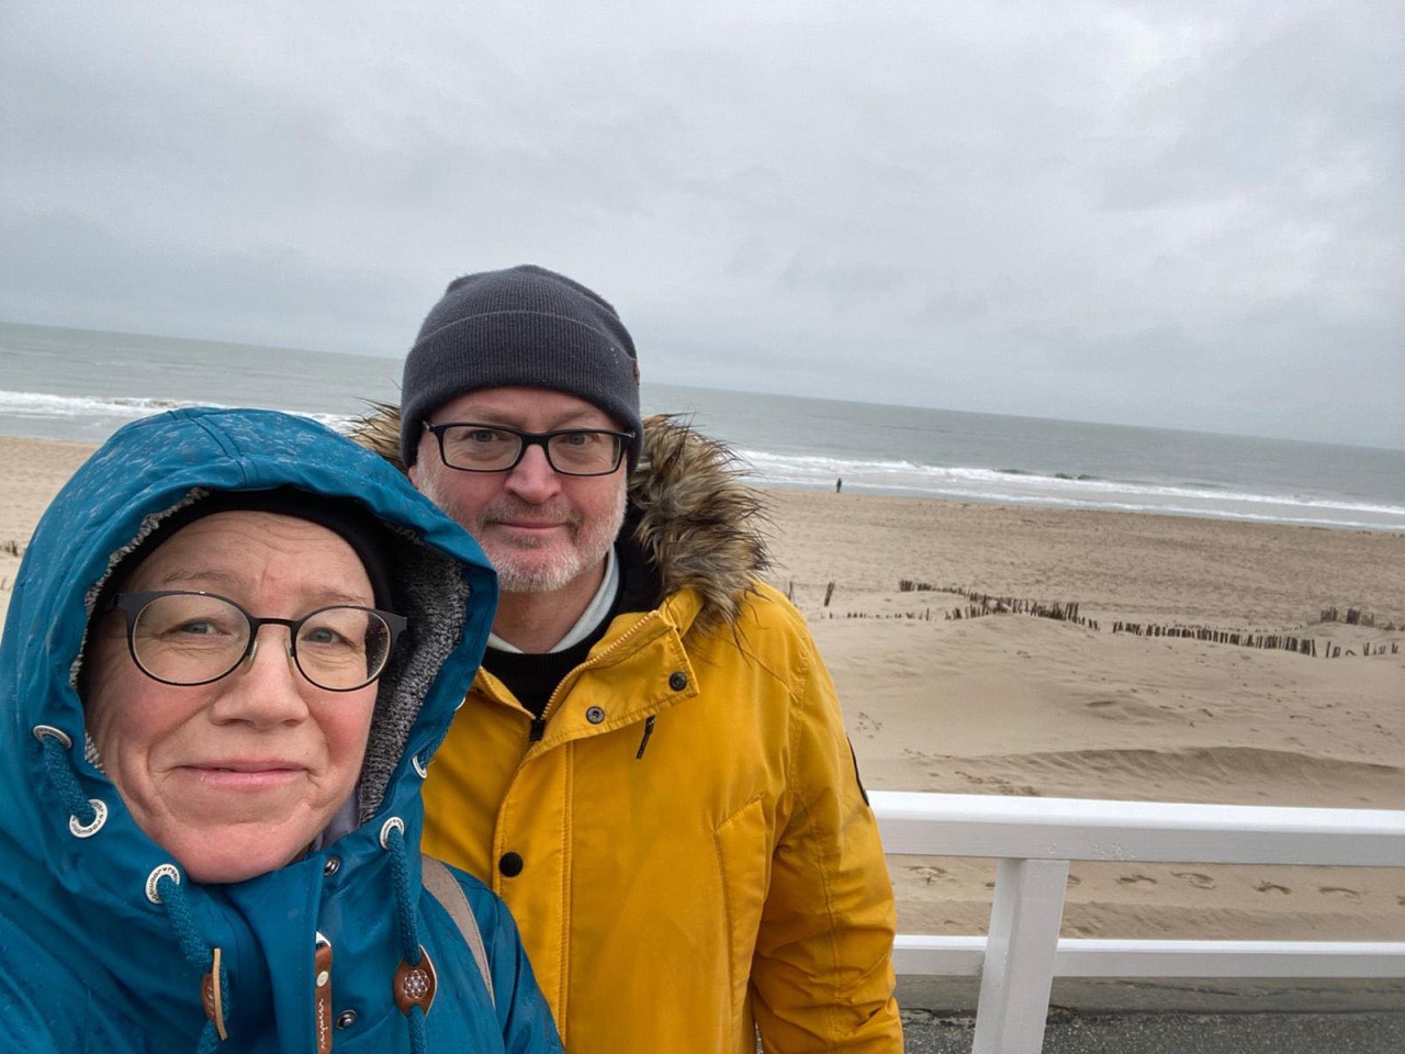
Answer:
[[[1071,860],[1405,867],[1405,811],[870,793],[889,854],[995,857],[989,936],[899,935],[899,977],[979,975],[972,1054],[1040,1054],[1054,977],[1405,978],[1405,942],[1061,939]]]

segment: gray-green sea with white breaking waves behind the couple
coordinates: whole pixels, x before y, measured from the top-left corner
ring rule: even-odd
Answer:
[[[0,322],[0,434],[101,443],[178,406],[346,429],[400,360]],[[759,486],[1405,533],[1405,451],[645,382]]]

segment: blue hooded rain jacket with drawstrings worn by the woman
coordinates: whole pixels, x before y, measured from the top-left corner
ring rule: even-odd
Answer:
[[[396,534],[395,606],[410,628],[381,680],[360,822],[249,881],[201,885],[177,868],[180,897],[156,904],[149,877],[174,861],[84,757],[74,677],[89,606],[115,554],[153,526],[146,517],[198,489],[284,485],[360,499]],[[320,933],[332,946],[323,1051],[559,1051],[502,902],[455,873],[486,943],[495,1006],[461,930],[420,887],[422,773],[478,669],[495,600],[493,573],[465,531],[381,458],[312,420],[200,409],[118,431],[39,521],[0,645],[0,1050],[318,1051]],[[398,860],[382,847],[391,818],[405,832]],[[438,975],[417,1022],[392,999],[406,932]],[[223,1040],[202,1006],[215,949]]]

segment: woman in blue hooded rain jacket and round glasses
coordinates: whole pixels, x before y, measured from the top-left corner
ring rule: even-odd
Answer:
[[[559,1051],[503,905],[422,885],[420,783],[495,594],[315,422],[118,431],[0,645],[0,1048]]]

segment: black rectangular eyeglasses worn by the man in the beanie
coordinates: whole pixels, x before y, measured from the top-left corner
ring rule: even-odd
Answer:
[[[634,433],[608,429],[521,431],[475,422],[424,422],[424,430],[438,440],[444,464],[464,472],[509,472],[527,447],[541,447],[547,464],[563,476],[607,476],[620,468],[634,441]]]

